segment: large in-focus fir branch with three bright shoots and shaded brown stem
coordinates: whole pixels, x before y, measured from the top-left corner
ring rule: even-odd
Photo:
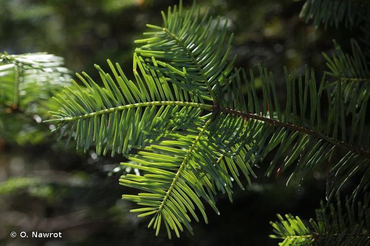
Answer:
[[[217,192],[231,200],[233,181],[243,188],[239,176],[250,182],[253,167],[268,154],[274,158],[267,176],[287,171],[289,181],[303,180],[320,166],[329,169],[328,198],[356,173],[363,179],[354,195],[369,183],[369,93],[360,105],[351,99],[347,123],[340,79],[331,83],[325,76],[317,80],[308,67],[303,75],[285,68],[283,107],[271,72],[259,66],[255,78],[227,62],[232,35],[226,38],[226,24],[213,28],[212,17],[200,16],[195,6],[184,12],[181,4],[162,16],[164,26],[148,25],[154,32],[137,41],[143,46],[134,54],[135,81],[117,63],[108,61],[111,74],[96,65],[103,88],[77,74],[85,87],[58,95],[61,109],[49,121],[62,130],[60,138],[69,136],[67,143],[74,136],[85,151],[95,145],[97,154],[124,154],[130,162],[122,165],[143,171],[119,181],[143,191],[123,198],[143,206],[132,212],[150,215],[156,234],[160,228],[169,237],[179,237],[184,227],[192,232],[197,210],[207,222],[203,202],[218,213]],[[359,87],[359,93],[364,88],[369,91]]]

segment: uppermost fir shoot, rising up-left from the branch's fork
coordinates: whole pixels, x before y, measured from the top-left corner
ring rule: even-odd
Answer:
[[[228,61],[233,35],[226,37],[227,20],[222,24],[219,17],[214,24],[208,12],[202,16],[199,11],[195,2],[185,13],[181,4],[179,10],[176,5],[174,9],[169,7],[167,16],[162,11],[163,27],[147,25],[153,32],[145,32],[148,38],[135,41],[146,43],[135,51],[177,70],[185,68],[187,77],[194,83],[204,83],[212,95],[216,82],[233,69],[236,56]]]

